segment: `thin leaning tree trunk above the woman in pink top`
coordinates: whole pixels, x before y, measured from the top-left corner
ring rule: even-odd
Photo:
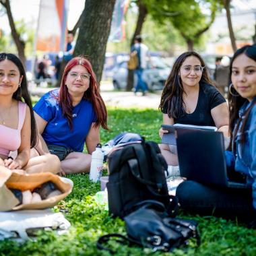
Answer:
[[[9,26],[11,28],[11,36],[13,38],[13,41],[15,42],[15,45],[17,47],[18,55],[20,57],[20,60],[22,61],[22,64],[26,68],[26,56],[25,56],[25,42],[20,39],[20,34],[17,32],[15,28],[15,24],[13,21],[12,13],[11,13],[11,7],[9,0],[1,0],[0,3],[5,7],[7,12],[7,17],[9,20]]]

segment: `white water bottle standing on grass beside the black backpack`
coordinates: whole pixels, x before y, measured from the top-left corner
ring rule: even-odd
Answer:
[[[92,152],[92,162],[90,168],[90,180],[97,182],[100,180],[103,169],[104,153],[101,150],[101,144],[98,143],[94,152]]]

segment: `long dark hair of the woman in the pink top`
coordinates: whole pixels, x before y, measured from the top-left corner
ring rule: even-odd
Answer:
[[[13,55],[12,53],[0,53],[0,62],[4,61],[5,59],[8,59],[12,63],[14,63],[20,71],[20,76],[23,77],[20,87],[18,87],[18,90],[14,92],[12,98],[14,98],[15,100],[24,101],[30,108],[30,119],[31,119],[30,146],[31,148],[34,148],[37,142],[37,130],[36,130],[36,121],[34,119],[34,113],[32,108],[32,102],[30,100],[30,95],[28,93],[26,71],[22,65],[22,61],[20,61],[20,59],[17,56]]]

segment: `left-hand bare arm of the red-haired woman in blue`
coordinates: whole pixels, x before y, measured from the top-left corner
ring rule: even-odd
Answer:
[[[47,121],[42,119],[42,117],[40,117],[40,115],[38,115],[36,112],[34,112],[34,118],[36,120],[36,127],[38,131],[38,143],[36,144],[35,149],[38,151],[38,154],[40,154],[40,156],[49,154],[49,149],[41,135],[44,132]]]

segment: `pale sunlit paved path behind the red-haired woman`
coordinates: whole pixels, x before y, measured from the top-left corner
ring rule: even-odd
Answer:
[[[29,86],[30,94],[32,96],[42,96],[49,90],[55,88],[44,88],[39,86]],[[116,92],[113,90],[112,84],[102,84],[100,86],[100,94],[108,106],[118,107],[135,107],[135,108],[158,108],[160,103],[160,93],[148,93],[146,96],[141,96],[141,92],[137,95],[134,92]]]

